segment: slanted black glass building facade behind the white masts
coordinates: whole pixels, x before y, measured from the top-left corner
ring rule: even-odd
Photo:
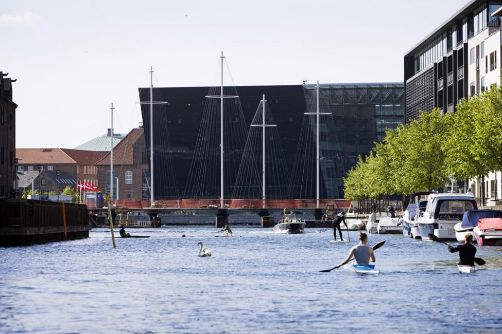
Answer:
[[[225,128],[232,129],[230,123],[234,126],[233,131],[226,132],[234,144],[230,139],[224,144],[226,199],[231,198],[234,191],[244,142],[263,94],[278,126],[285,157],[283,163],[290,176],[289,184],[275,186],[292,189],[288,198],[316,197],[315,157],[312,158],[315,116],[304,115],[315,112],[315,88],[316,85],[240,86],[235,87],[236,92],[229,93],[239,98],[224,101],[225,110],[230,110],[231,106],[235,107],[232,110],[237,110],[224,116]],[[154,88],[153,100],[168,102],[153,107],[155,199],[219,198],[219,99],[206,97],[218,94],[219,87]],[[374,142],[385,137],[386,128],[402,123],[404,87],[402,83],[321,84],[319,95],[321,112],[331,113],[322,116],[320,121],[321,198],[343,198],[342,178],[355,165],[358,155],[368,154]],[[140,89],[140,99],[149,101],[148,88]],[[149,105],[142,104],[142,116],[149,151]],[[241,122],[244,124],[238,124]],[[215,131],[207,131],[207,128]],[[204,146],[207,141],[212,144]],[[306,150],[307,154],[302,154],[301,150]],[[201,159],[211,161],[205,163]],[[303,168],[298,167],[302,163]],[[297,175],[299,171],[308,175]],[[299,185],[300,177],[309,181]],[[200,187],[204,188],[203,192],[196,189]],[[272,185],[267,184],[267,187]]]

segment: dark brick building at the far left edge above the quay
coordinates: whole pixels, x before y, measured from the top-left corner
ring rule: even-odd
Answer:
[[[0,71],[0,198],[15,196],[15,109],[12,80]]]

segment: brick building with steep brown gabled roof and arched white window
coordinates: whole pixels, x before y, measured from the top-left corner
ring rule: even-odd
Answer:
[[[133,128],[113,149],[114,198],[149,199],[149,176],[145,137],[143,128]],[[96,163],[98,184],[101,191],[110,191],[110,153]],[[106,184],[106,187],[105,185]],[[146,184],[146,186],[145,186]]]

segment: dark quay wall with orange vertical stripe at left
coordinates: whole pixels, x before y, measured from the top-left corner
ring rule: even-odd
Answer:
[[[89,237],[84,205],[30,199],[0,200],[0,247]]]

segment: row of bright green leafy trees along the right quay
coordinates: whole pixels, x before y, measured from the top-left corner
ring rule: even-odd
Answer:
[[[443,188],[449,177],[484,177],[502,170],[502,88],[463,99],[457,112],[421,112],[389,129],[344,178],[345,197],[409,195]]]

